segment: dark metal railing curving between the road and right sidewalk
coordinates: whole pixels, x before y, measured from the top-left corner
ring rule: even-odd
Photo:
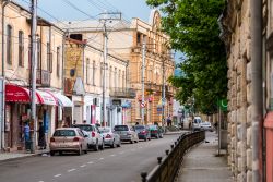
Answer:
[[[204,139],[204,131],[179,136],[175,144],[170,145],[170,150],[165,151],[165,157],[157,157],[158,165],[150,173],[141,173],[142,182],[173,182],[186,151]]]

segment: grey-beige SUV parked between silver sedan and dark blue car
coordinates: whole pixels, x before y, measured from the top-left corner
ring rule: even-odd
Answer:
[[[121,142],[139,142],[139,136],[133,126],[131,125],[115,125],[114,133],[119,134]]]

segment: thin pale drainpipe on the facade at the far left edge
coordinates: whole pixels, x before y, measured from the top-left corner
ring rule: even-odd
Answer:
[[[1,102],[1,125],[0,125],[0,132],[1,132],[1,146],[0,148],[2,149],[4,147],[4,108],[5,108],[5,74],[4,74],[4,8],[10,3],[10,0],[4,1],[4,3],[2,4],[2,102]]]

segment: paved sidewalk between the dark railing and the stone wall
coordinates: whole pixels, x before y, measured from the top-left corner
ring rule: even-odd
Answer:
[[[233,182],[226,157],[216,157],[218,138],[206,132],[204,143],[193,147],[186,156],[177,182]]]

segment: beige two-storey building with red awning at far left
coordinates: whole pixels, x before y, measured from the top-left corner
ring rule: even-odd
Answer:
[[[31,14],[13,2],[4,10],[4,32],[1,31],[4,35],[4,39],[1,39],[1,43],[4,41],[1,44],[4,45],[4,52],[1,52],[4,53],[4,60],[1,61],[4,70],[1,66],[1,73],[5,78],[2,148],[16,150],[24,147],[23,128],[31,119]],[[64,97],[61,94],[63,31],[40,17],[37,24],[36,122],[44,123],[49,138],[58,121],[62,120],[62,109],[71,107],[69,100],[67,105],[60,105],[63,100],[59,100]],[[33,122],[31,128],[34,128]]]

